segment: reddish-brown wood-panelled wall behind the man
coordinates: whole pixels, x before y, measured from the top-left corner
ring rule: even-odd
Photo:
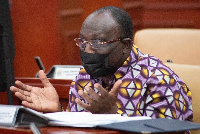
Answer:
[[[200,29],[200,0],[9,0],[15,77],[35,77],[40,56],[53,65],[80,65],[74,38],[84,19],[103,6],[126,10],[134,32],[144,28]]]

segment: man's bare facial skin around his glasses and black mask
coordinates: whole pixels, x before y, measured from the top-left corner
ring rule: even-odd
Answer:
[[[83,23],[80,38],[86,41],[101,40],[104,42],[118,39],[120,38],[119,24],[113,20],[109,12],[93,14]],[[87,53],[110,54],[109,66],[119,67],[123,63],[123,61],[119,62],[123,55],[122,49],[123,43],[116,41],[103,44],[99,49],[94,49],[87,44],[84,51]]]

